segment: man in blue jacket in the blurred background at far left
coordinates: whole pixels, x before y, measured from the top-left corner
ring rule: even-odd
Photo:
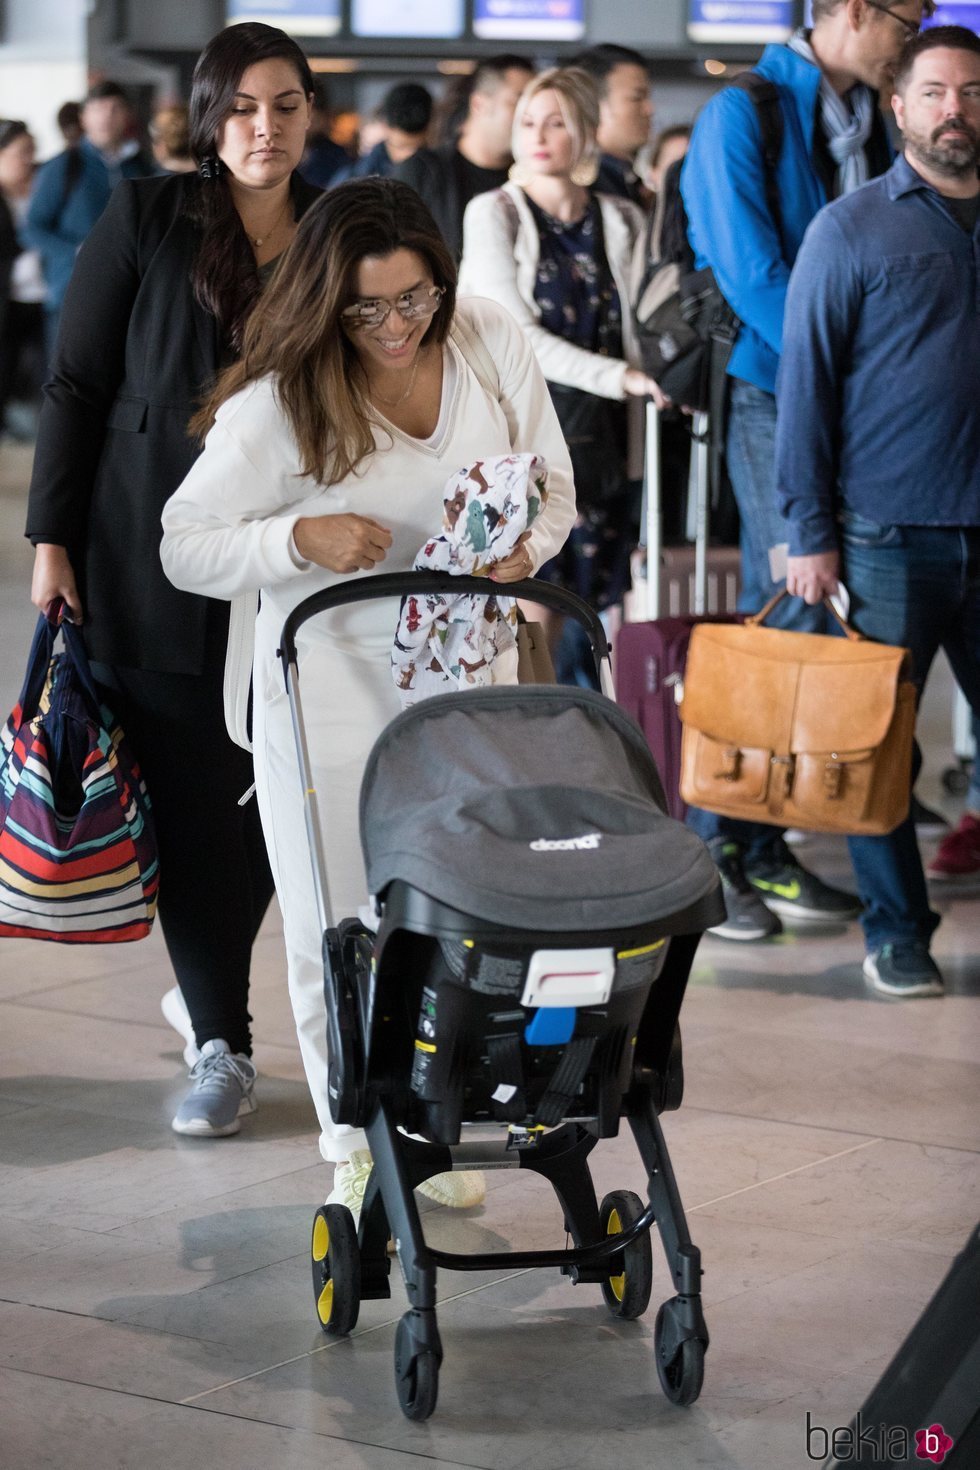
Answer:
[[[148,178],[157,168],[128,134],[129,98],[119,82],[97,82],[82,106],[82,141],[38,169],[24,237],[41,254],[47,281],[48,357],[75,256],[120,178]]]

